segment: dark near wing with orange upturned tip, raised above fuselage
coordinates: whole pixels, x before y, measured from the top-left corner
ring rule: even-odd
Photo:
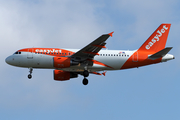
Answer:
[[[87,45],[86,47],[82,48],[81,50],[79,50],[78,52],[73,54],[71,56],[71,58],[74,61],[80,61],[80,62],[85,61],[87,59],[93,59],[95,55],[99,55],[98,52],[102,48],[106,48],[105,47],[105,45],[106,45],[105,41],[110,36],[112,36],[113,33],[114,32],[100,36],[99,38],[97,38],[96,40],[91,42],[89,45]]]

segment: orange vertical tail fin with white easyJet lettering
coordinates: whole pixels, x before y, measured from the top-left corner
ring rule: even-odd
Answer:
[[[139,48],[141,51],[158,52],[165,48],[171,24],[161,24]]]

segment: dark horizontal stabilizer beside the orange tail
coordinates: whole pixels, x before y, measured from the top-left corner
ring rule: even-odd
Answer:
[[[172,49],[172,47],[164,48],[163,50],[161,50],[153,55],[150,55],[148,58],[151,60],[155,60],[155,59],[164,57],[171,49]]]

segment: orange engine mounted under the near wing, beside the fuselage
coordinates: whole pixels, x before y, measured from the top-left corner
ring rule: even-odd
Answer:
[[[79,62],[72,61],[69,57],[54,57],[55,68],[67,68],[78,64]]]

